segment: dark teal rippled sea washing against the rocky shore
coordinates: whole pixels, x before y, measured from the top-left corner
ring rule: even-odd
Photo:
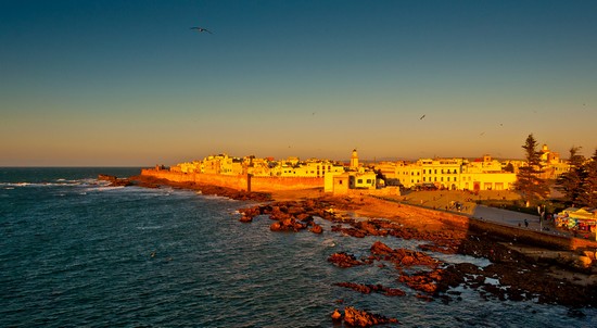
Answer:
[[[107,187],[139,168],[0,168],[0,327],[333,327],[355,306],[403,327],[597,327],[597,311],[482,299],[424,302],[392,265],[338,268],[335,252],[368,255],[380,240],[271,232],[251,202],[172,188]],[[446,263],[487,260],[440,255]],[[381,283],[404,297],[360,294],[336,282]],[[338,327],[338,325],[336,325]],[[382,326],[383,327],[383,326]]]

